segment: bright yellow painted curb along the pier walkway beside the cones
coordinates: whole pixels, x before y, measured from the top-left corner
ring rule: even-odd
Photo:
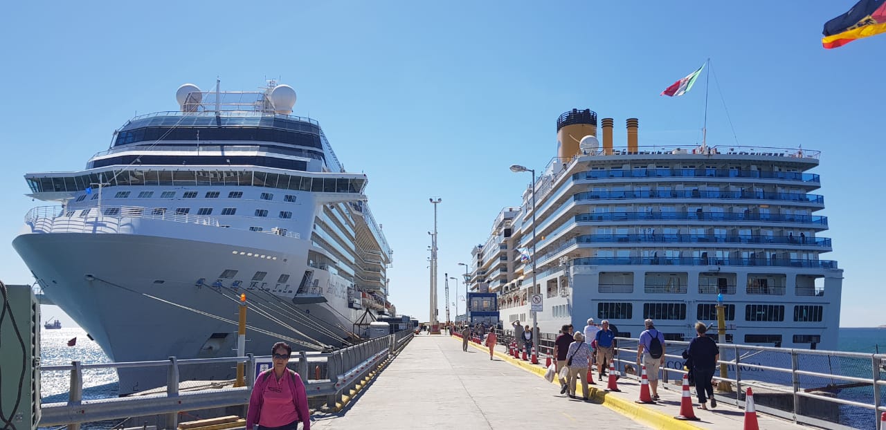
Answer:
[[[462,338],[452,336],[454,339],[462,342]],[[483,345],[478,345],[474,342],[468,342],[468,344],[476,349],[480,349],[486,353],[489,352],[489,348]],[[504,361],[508,362],[511,365],[515,365],[520,367],[526,371],[535,373],[540,377],[544,378],[545,372],[548,371],[545,367],[540,367],[539,365],[532,365],[530,362],[526,362],[523,360],[517,360],[514,357],[510,357],[509,355],[495,351],[495,357],[499,357],[504,359]],[[556,378],[551,381],[551,384],[555,384],[557,386],[560,385],[559,381]],[[603,406],[611,409],[612,411],[617,411],[618,413],[633,419],[634,421],[639,421],[647,426],[657,429],[685,429],[685,430],[697,430],[703,429],[704,427],[694,426],[688,421],[681,421],[680,419],[675,419],[670,415],[665,414],[664,412],[655,411],[643,406],[640,403],[633,403],[629,400],[617,397],[615,395],[608,395],[606,391],[597,388],[590,388],[591,395],[590,397],[596,402],[600,402]],[[581,387],[576,387],[576,394],[581,391]]]

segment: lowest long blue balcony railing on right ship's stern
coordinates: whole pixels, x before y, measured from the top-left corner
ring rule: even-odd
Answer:
[[[836,269],[834,260],[696,257],[579,257],[572,265],[733,265]]]

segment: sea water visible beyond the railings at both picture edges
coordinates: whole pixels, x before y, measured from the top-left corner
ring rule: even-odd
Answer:
[[[67,343],[76,338],[74,346]],[[840,328],[839,350],[871,354],[876,351],[886,353],[886,328]],[[81,328],[62,328],[43,330],[41,332],[41,362],[43,366],[70,365],[79,360],[83,364],[107,363],[108,357],[90,341]],[[841,361],[844,374],[870,378],[870,360],[849,359]],[[67,401],[70,386],[69,372],[43,372],[41,380],[41,396],[43,403]],[[886,372],[881,372],[886,379]],[[886,391],[886,390],[884,390]],[[117,373],[109,369],[83,371],[83,400],[115,397],[117,395]],[[873,389],[850,388],[840,392],[839,397],[860,403],[873,403]],[[886,399],[886,392],[883,393]],[[855,428],[876,428],[874,411],[841,406],[841,424]],[[84,429],[112,428],[117,422],[105,421],[83,426]]]

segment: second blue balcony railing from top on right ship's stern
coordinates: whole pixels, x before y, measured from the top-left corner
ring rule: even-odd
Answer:
[[[777,200],[784,202],[824,204],[824,196],[805,193],[779,193],[770,191],[727,191],[727,190],[699,190],[699,189],[674,189],[662,190],[610,190],[610,191],[585,191],[572,196],[574,201],[583,200],[621,200],[637,198],[673,198],[673,199],[749,199],[749,200]]]

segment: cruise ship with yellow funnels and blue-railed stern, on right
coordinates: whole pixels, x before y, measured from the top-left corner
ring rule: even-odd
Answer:
[[[593,318],[637,337],[654,319],[688,341],[696,321],[716,326],[722,295],[727,342],[836,349],[843,271],[820,259],[819,151],[641,146],[638,119],[617,147],[601,123],[602,145],[595,111],[563,113],[557,156],[471,251],[470,288],[497,293],[505,328],[532,321],[536,293],[541,333]]]

